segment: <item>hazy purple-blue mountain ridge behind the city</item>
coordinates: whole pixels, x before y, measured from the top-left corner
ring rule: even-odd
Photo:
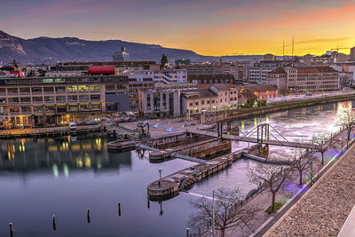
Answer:
[[[76,37],[37,37],[22,39],[0,30],[0,65],[12,60],[20,64],[48,64],[66,61],[112,61],[114,51],[125,46],[130,60],[160,61],[162,54],[169,60],[191,59],[193,62],[261,59],[260,55],[204,56],[194,51],[164,48],[157,44],[132,43],[122,40],[89,41]]]

